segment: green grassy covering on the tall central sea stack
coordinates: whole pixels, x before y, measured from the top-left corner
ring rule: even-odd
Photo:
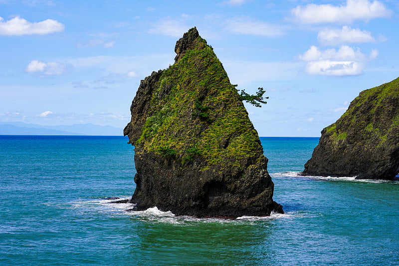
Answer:
[[[200,37],[194,49],[163,71],[151,104],[155,112],[138,141],[145,151],[167,151],[187,160],[202,157],[210,164],[262,153],[235,87]]]

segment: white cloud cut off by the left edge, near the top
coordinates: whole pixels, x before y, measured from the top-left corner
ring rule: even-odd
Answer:
[[[0,17],[0,35],[20,36],[29,34],[44,35],[63,31],[65,26],[54,19],[46,19],[40,22],[29,22],[19,16],[4,21]]]

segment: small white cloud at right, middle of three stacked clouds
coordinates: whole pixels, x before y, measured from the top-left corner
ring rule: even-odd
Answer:
[[[370,31],[349,26],[343,26],[342,29],[324,29],[319,32],[317,38],[321,43],[328,45],[376,41]]]

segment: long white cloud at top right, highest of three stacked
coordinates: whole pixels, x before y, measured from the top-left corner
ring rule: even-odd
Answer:
[[[356,19],[372,19],[390,16],[391,10],[387,9],[380,1],[347,0],[346,4],[334,6],[332,4],[298,5],[291,9],[295,18],[304,24],[317,23],[346,23]]]

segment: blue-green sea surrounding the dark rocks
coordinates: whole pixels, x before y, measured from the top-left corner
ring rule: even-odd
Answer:
[[[318,138],[261,138],[286,214],[129,212],[125,137],[0,136],[0,265],[399,265],[399,181],[301,177]]]

